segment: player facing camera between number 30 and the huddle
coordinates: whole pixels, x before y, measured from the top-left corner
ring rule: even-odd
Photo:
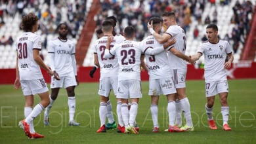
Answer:
[[[75,86],[78,85],[77,68],[75,61],[75,43],[67,38],[68,25],[61,23],[57,27],[58,37],[49,43],[48,54],[50,66],[54,77],[51,79],[51,103],[45,109],[43,122],[49,125],[49,113],[53,103],[58,97],[60,88],[64,86],[68,94],[68,107],[70,120],[68,125],[79,126],[75,122]]]

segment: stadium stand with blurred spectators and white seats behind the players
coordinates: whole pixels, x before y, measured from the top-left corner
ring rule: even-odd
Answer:
[[[93,15],[89,14],[91,9],[96,9],[92,4],[98,1],[100,0],[70,0],[68,3],[65,0],[1,1],[0,69],[14,68],[16,65],[16,50],[13,47],[14,45],[10,41],[8,43],[2,43],[1,41],[6,41],[9,37],[12,37],[13,41],[16,40],[16,35],[22,33],[20,30],[20,20],[22,15],[27,12],[35,12],[40,18],[41,29],[37,34],[42,37],[44,48],[41,54],[46,63],[48,63],[47,49],[45,48],[47,47],[47,41],[56,37],[54,29],[56,29],[56,26],[60,22],[67,22],[70,26],[70,39],[77,42],[78,56],[76,58],[79,65],[93,66],[92,45],[96,40],[95,29],[100,27],[102,20],[107,16],[115,15],[117,17],[117,33],[120,33],[128,25],[135,26],[137,29],[136,38],[140,41],[148,35],[146,22],[148,22],[150,16],[161,16],[161,12],[164,10],[175,10],[179,17],[179,24],[186,29],[186,54],[196,52],[198,45],[202,43],[201,38],[205,33],[206,26],[204,21],[209,14],[210,20],[219,26],[219,36],[221,39],[224,39],[226,34],[228,35],[230,44],[234,48],[234,52],[236,51],[234,62],[238,62],[243,52],[242,49],[244,48],[245,40],[247,39],[246,35],[249,31],[244,29],[244,37],[240,35],[239,45],[234,45],[235,37],[232,37],[234,36],[232,33],[240,30],[238,29],[240,23],[235,21],[236,17],[234,16],[233,9],[239,8],[237,10],[240,12],[238,17],[242,18],[244,18],[244,15],[242,15],[244,14],[243,12],[247,12],[245,14],[247,21],[244,24],[250,24],[253,18],[253,6],[255,6],[255,1],[249,1],[251,5],[248,5],[249,2],[247,3],[244,0],[238,0],[238,2],[225,0],[216,1],[215,3],[210,3],[207,0],[197,1],[196,3],[190,0],[173,0],[171,3],[167,0],[102,0],[100,1],[102,7],[99,8],[97,5],[96,8],[99,10],[94,11]],[[240,5],[239,7],[238,4]],[[95,20],[95,23],[90,21],[92,19]],[[95,27],[92,27],[93,24],[95,24]],[[195,39],[193,32],[196,26],[198,27],[199,33]],[[243,26],[247,27],[245,25]],[[3,35],[5,39],[1,39]],[[85,36],[88,37],[85,38]]]

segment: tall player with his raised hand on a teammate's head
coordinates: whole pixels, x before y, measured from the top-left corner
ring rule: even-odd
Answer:
[[[192,64],[195,63],[194,60],[185,55],[186,51],[186,34],[184,30],[177,25],[175,12],[166,11],[162,14],[163,24],[167,27],[167,30],[163,35],[156,33],[152,29],[152,24],[148,23],[148,29],[150,33],[156,38],[159,43],[165,43],[172,37],[176,39],[176,43],[171,46],[171,49],[168,50],[168,59],[169,65],[171,67],[173,82],[177,90],[176,101],[176,120],[175,123],[177,126],[182,126],[181,119],[181,110],[183,111],[184,117],[186,119],[186,125],[181,127],[181,130],[184,131],[193,131],[194,126],[192,123],[191,113],[190,113],[190,103],[186,97],[186,62]]]

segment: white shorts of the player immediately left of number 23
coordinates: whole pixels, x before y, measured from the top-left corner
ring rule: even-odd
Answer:
[[[109,97],[110,91],[114,90],[114,94],[117,94],[118,76],[116,77],[104,77],[100,79],[98,86],[98,94],[100,96]]]

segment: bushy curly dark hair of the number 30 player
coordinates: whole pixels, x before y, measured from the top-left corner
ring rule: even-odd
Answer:
[[[39,18],[32,12],[22,17],[21,28],[23,31],[32,31],[32,27],[37,23]]]

